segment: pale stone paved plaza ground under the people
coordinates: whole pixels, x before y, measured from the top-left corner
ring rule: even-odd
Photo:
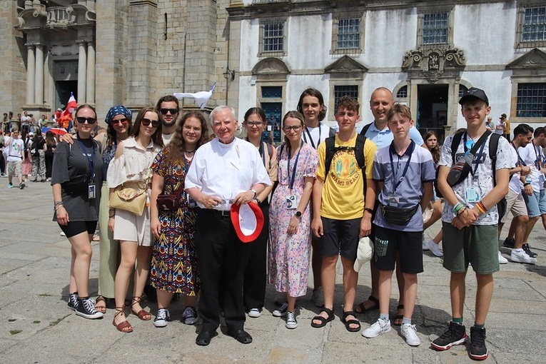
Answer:
[[[261,318],[249,318],[246,329],[253,343],[242,345],[226,336],[225,326],[208,347],[194,341],[200,325],[180,323],[183,303],[171,305],[173,322],[155,328],[135,315],[134,327],[119,333],[111,324],[113,309],[101,320],[86,320],[66,307],[70,246],[51,222],[49,183],[29,183],[23,191],[8,189],[0,179],[0,362],[1,363],[470,363],[464,345],[445,352],[429,348],[450,320],[449,275],[439,258],[425,252],[425,273],[419,275],[414,322],[421,345],[410,348],[400,329],[374,339],[348,333],[340,322],[341,270],[336,285],[336,320],[325,328],[310,327],[318,309],[310,292],[298,300],[299,326],[288,330],[273,317],[275,292],[268,288]],[[432,236],[439,224],[428,231]],[[531,246],[537,266],[508,263],[495,275],[495,293],[487,318],[485,363],[544,363],[546,355],[546,237],[537,224]],[[509,251],[501,249],[505,256]],[[90,293],[96,294],[98,243],[93,244]],[[508,254],[507,254],[508,253]],[[465,323],[473,323],[475,283],[467,279]],[[393,285],[396,287],[395,285]],[[358,298],[370,293],[369,266],[360,272]],[[397,304],[393,290],[391,315]],[[155,303],[146,303],[155,315]],[[375,322],[378,311],[359,315],[363,328]],[[221,332],[220,332],[221,331]]]

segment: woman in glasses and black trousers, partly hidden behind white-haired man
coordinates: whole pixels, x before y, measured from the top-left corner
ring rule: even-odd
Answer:
[[[262,133],[267,126],[266,114],[261,108],[249,108],[245,113],[244,120],[246,141],[256,146],[271,183],[275,183],[277,181],[277,151],[271,144],[262,141]],[[252,243],[251,255],[248,258],[243,281],[243,305],[251,318],[261,316],[263,302],[266,298],[267,241],[269,236],[268,198],[271,191],[273,191],[273,184],[266,187],[255,199],[262,210],[264,221],[260,236]]]

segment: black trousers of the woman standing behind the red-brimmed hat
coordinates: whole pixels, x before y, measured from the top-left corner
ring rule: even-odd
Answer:
[[[269,203],[263,201],[260,204],[263,213],[263,229],[258,238],[251,245],[250,258],[246,265],[243,283],[243,305],[245,310],[251,308],[263,308],[266,300],[267,280],[267,253],[269,238]]]

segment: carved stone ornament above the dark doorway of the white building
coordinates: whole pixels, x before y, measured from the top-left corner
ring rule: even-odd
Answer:
[[[465,66],[465,53],[457,48],[413,49],[405,53],[402,62],[403,71],[410,77],[424,77],[433,83],[453,71],[462,71]]]

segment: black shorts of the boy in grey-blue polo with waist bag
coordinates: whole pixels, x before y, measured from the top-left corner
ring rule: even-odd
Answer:
[[[400,252],[402,273],[423,272],[423,231],[398,231],[375,226],[375,266],[380,271],[394,271],[396,251]]]

